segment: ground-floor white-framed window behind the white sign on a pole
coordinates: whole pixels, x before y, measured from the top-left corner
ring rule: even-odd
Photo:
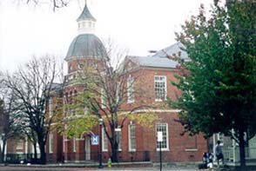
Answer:
[[[158,132],[162,132],[163,141],[161,141],[161,142],[157,141],[157,150],[159,150],[160,144],[161,144],[162,150],[169,150],[168,124],[167,123],[159,123],[159,124],[157,124],[157,135],[158,135]]]

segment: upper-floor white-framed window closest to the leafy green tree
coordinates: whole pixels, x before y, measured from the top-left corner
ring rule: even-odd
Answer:
[[[155,76],[155,101],[166,100],[166,76]]]

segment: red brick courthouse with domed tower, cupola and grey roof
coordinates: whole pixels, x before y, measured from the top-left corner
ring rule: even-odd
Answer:
[[[62,98],[64,103],[66,97],[77,95],[83,91],[82,85],[72,81],[76,79],[79,69],[90,64],[92,59],[106,56],[103,44],[94,35],[96,19],[91,16],[85,5],[82,14],[77,18],[78,35],[72,41],[65,61],[68,65],[68,72],[63,84],[55,84],[52,97],[49,99],[49,115],[52,115],[53,108],[57,105],[57,98]],[[95,48],[97,43],[97,48]],[[152,56],[126,56],[124,62],[132,66],[132,76],[141,76],[140,83],[147,89],[148,98],[134,95],[133,99],[127,101],[124,109],[129,109],[130,103],[145,102],[164,103],[161,99],[170,97],[177,99],[179,90],[174,87],[171,81],[175,81],[174,75],[179,74],[177,62],[167,56],[179,54],[184,60],[188,59],[187,54],[180,49],[182,44],[175,43],[166,49],[159,50]],[[123,63],[124,63],[123,62]],[[135,85],[136,86],[136,85]],[[58,104],[61,105],[61,104]],[[181,135],[184,128],[179,122],[178,111],[174,109],[154,109],[154,112],[162,118],[161,123],[154,124],[153,128],[144,128],[136,122],[126,121],[120,130],[120,142],[118,151],[119,161],[158,161],[159,144],[157,134],[163,133],[162,158],[164,162],[201,161],[202,154],[207,151],[207,142],[202,135],[189,136]],[[80,138],[68,139],[52,131],[48,136],[46,145],[48,162],[83,162],[98,161],[99,146],[91,144],[91,135],[99,135],[99,127],[95,127],[91,134],[81,135]],[[107,140],[104,131],[101,135],[101,148],[103,161],[111,157],[111,145]]]

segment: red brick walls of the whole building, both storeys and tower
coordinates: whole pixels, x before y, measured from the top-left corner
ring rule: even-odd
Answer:
[[[74,65],[72,69],[77,66],[78,62],[69,62],[69,65]],[[71,71],[69,71],[71,72]],[[167,84],[167,96],[172,100],[177,100],[181,92],[172,82],[176,82],[174,77],[178,74],[177,69],[138,69],[131,72],[131,75],[136,78],[134,84],[135,89],[135,102],[127,104],[125,102],[122,105],[123,110],[129,111],[135,105],[148,105],[154,106],[155,109],[165,110],[165,113],[158,113],[157,115],[162,118],[163,123],[168,124],[168,141],[169,150],[163,151],[163,161],[201,161],[202,154],[207,151],[207,144],[202,135],[190,136],[188,134],[181,135],[184,132],[184,128],[179,122],[175,122],[175,119],[179,119],[178,114],[174,112],[167,113],[166,110],[170,110],[165,107],[165,102],[155,102],[154,91],[154,76],[166,76]],[[74,92],[82,92],[83,86],[69,86],[64,88],[64,95],[73,95]],[[71,98],[68,97],[68,98]],[[146,115],[146,114],[145,114]],[[136,123],[136,121],[133,121]],[[143,128],[140,125],[136,125],[136,152],[129,152],[128,144],[128,125],[130,121],[126,121],[122,128],[122,151],[119,152],[120,161],[158,161],[158,151],[156,150],[156,127],[155,123],[152,123],[152,128]],[[108,128],[110,131],[111,129]],[[98,126],[92,130],[94,135],[99,135]],[[91,136],[91,135],[89,135]],[[56,158],[62,156],[63,143],[61,136],[55,135],[57,140],[54,153],[61,154],[56,155]],[[57,138],[58,137],[58,138]],[[83,137],[84,138],[84,137]],[[73,152],[73,141],[65,141],[65,161],[84,161],[85,159],[85,141],[76,141],[76,152]],[[91,160],[98,161],[98,146],[91,145]],[[103,161],[106,162],[111,156],[111,145],[108,143],[108,151],[103,152]],[[57,159],[55,160],[57,161]]]

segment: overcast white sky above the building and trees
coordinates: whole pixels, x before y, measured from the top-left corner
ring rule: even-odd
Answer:
[[[77,16],[84,0],[53,12],[50,4],[39,7],[18,5],[18,0],[0,1],[0,67],[14,70],[31,56],[46,53],[64,59],[77,36]],[[47,1],[47,0],[44,0]],[[150,49],[164,49],[175,43],[174,32],[200,3],[212,0],[87,0],[97,19],[96,35],[111,37],[129,49],[129,55],[147,56]]]

